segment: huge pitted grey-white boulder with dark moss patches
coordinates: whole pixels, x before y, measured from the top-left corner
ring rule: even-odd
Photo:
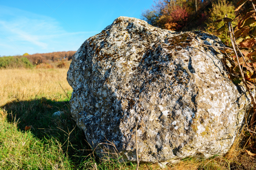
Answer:
[[[189,33],[204,44],[223,45],[211,34]],[[72,58],[71,113],[91,146],[113,142],[121,161],[136,161],[136,118],[143,162],[224,154],[249,99],[228,79],[223,57],[217,48],[199,46],[188,32],[119,17]],[[100,144],[99,155],[105,147],[115,153]]]

